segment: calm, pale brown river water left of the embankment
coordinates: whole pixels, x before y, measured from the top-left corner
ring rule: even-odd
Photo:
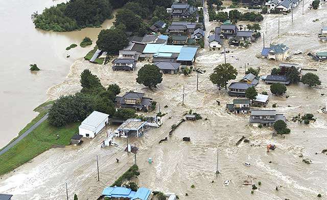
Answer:
[[[72,43],[87,36],[96,41],[101,28],[86,28],[68,33],[44,32],[34,28],[31,14],[41,13],[64,1],[0,1],[0,148],[17,136],[19,130],[37,113],[33,109],[46,99],[46,91],[62,82],[73,62],[94,47],[66,51]],[[103,28],[112,25],[106,20]],[[66,58],[70,55],[69,58]],[[41,71],[31,73],[29,65],[36,63]]]

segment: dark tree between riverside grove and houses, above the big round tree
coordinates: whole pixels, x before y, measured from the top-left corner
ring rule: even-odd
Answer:
[[[124,24],[127,31],[137,32],[141,26],[141,17],[129,9],[120,9],[116,13],[114,25]]]

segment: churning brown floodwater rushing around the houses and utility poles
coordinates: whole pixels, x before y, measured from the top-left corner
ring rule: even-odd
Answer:
[[[320,27],[327,24],[327,5],[314,11],[307,10],[309,4],[307,2],[305,5],[305,15],[302,15],[300,8],[294,10],[293,24],[290,15],[265,15],[261,23],[262,27],[267,25],[266,43],[283,42],[292,53],[303,51],[301,55],[292,55],[289,62],[316,69],[322,82],[315,88],[303,84],[287,86],[286,95],[289,98],[272,96],[269,85],[263,82],[257,86],[259,92],[267,91],[270,95],[267,109],[276,103],[277,112],[286,116],[291,134],[285,138],[273,137],[271,128],[249,126],[248,115],[226,113],[225,104],[233,98],[225,90],[219,91],[208,80],[213,68],[224,61],[220,51],[199,51],[195,66],[206,70],[199,75],[199,91],[196,91],[195,73],[188,77],[164,75],[158,88],[150,91],[135,82],[137,72],[113,72],[109,65],[96,65],[79,59],[72,65],[65,81],[52,87],[48,95],[57,98],[79,91],[80,73],[90,69],[103,85],[117,83],[122,93],[132,88],[160,103],[161,112],[167,113],[163,118],[164,124],[160,128],[149,128],[141,138],[129,139],[130,143],[139,147],[137,165],[141,175],[135,180],[139,186],[174,192],[180,199],[238,199],[240,196],[246,199],[316,199],[318,193],[322,194],[321,199],[326,199],[327,155],[320,152],[327,148],[327,116],[317,110],[326,103],[321,94],[327,94],[327,63],[313,62],[306,53],[327,50],[326,43],[321,43],[317,38]],[[278,17],[281,20],[279,37]],[[316,18],[319,21],[313,23],[312,20]],[[217,24],[207,23],[206,28],[214,29],[215,26]],[[262,46],[263,40],[260,39],[248,49],[229,48],[233,53],[226,54],[227,61],[238,69],[237,79],[244,75],[244,63],[260,66],[260,75],[269,73],[278,65],[278,62],[255,57]],[[138,62],[137,70],[143,64]],[[221,102],[220,106],[217,100]],[[171,125],[178,123],[190,109],[201,114],[203,119],[184,122],[172,136],[168,136]],[[292,122],[290,119],[298,113],[312,113],[317,121],[310,125]],[[236,146],[242,136],[250,143]],[[168,137],[168,141],[158,144],[165,137]],[[190,137],[191,142],[182,142],[183,137]],[[111,185],[134,162],[134,156],[123,151],[125,139],[115,139],[118,147],[101,148],[104,138],[105,131],[95,139],[85,139],[81,147],[68,146],[42,153],[31,163],[4,175],[0,180],[0,192],[13,193],[14,199],[24,199],[26,196],[28,199],[64,199],[67,182],[69,198],[76,193],[81,199],[96,199],[104,187]],[[277,148],[267,153],[266,145],[270,143]],[[218,176],[215,174],[217,150],[221,172]],[[99,155],[100,182],[97,181],[96,155]],[[153,158],[152,164],[147,162],[149,157]],[[116,158],[120,159],[120,163],[115,162]],[[308,165],[302,162],[307,158],[313,163]],[[245,166],[245,162],[251,166]],[[251,194],[251,186],[242,184],[248,175],[259,188],[254,194]],[[229,186],[223,185],[225,180],[231,180]],[[261,186],[258,185],[259,181]],[[195,185],[195,188],[191,188],[191,185]],[[278,191],[275,190],[276,186],[279,186]]]

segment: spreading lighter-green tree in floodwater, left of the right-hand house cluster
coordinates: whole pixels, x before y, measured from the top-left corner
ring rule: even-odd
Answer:
[[[210,75],[210,80],[212,83],[218,86],[220,90],[221,87],[225,86],[227,90],[227,82],[232,79],[236,79],[237,70],[229,63],[219,64],[214,72]]]

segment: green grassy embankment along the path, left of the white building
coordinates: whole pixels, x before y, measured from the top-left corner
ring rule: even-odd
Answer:
[[[43,103],[34,110],[40,114],[23,128],[19,135],[33,126],[41,119],[51,106],[51,102]],[[10,148],[6,153],[0,155],[0,175],[12,171],[20,165],[30,161],[37,155],[51,148],[52,145],[68,145],[71,137],[78,131],[79,123],[70,124],[61,128],[49,124],[48,120],[42,122],[28,136],[19,141],[15,146]],[[58,137],[57,137],[58,135]],[[11,142],[13,142],[12,140]]]

